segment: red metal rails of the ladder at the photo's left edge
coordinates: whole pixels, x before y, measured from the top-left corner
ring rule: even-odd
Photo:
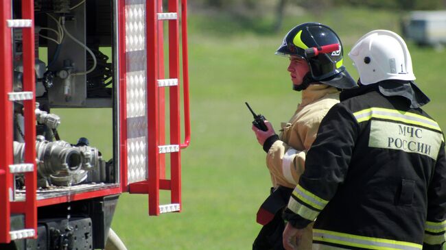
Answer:
[[[7,20],[11,19],[11,1],[3,0],[0,10],[0,49],[3,60],[0,64],[0,75],[4,82],[0,87],[0,130],[3,132],[0,139],[0,201],[5,201],[0,208],[0,242],[10,242],[10,215],[13,213],[25,214],[25,228],[37,232],[36,207],[36,101],[34,98],[23,101],[23,116],[25,118],[25,162],[34,165],[34,171],[25,173],[25,201],[21,203],[9,202],[12,193],[12,175],[9,166],[14,163],[12,157],[12,102],[8,93],[12,92],[12,36]],[[23,91],[35,92],[34,72],[34,1],[23,1],[21,18],[33,21],[31,27],[23,27]],[[20,205],[17,205],[20,204]],[[34,236],[36,238],[37,235]]]

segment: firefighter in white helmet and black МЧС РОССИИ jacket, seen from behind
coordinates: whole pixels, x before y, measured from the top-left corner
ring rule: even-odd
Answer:
[[[283,214],[285,249],[314,223],[313,249],[441,249],[446,230],[443,132],[421,106],[403,39],[376,30],[349,53],[360,87],[320,123]],[[316,219],[317,218],[317,219]]]

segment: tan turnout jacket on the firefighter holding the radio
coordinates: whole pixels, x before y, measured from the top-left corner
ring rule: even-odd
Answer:
[[[294,116],[281,124],[279,140],[266,156],[272,185],[294,188],[305,168],[305,155],[312,146],[320,121],[328,110],[339,102],[336,88],[325,84],[311,84],[302,91],[302,101]],[[312,249],[312,225],[305,228],[299,249]]]

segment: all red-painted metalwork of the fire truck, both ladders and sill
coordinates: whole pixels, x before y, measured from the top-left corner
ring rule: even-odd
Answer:
[[[171,190],[172,203],[181,203],[180,151],[170,155],[171,179],[165,179],[165,159],[160,156],[159,146],[165,142],[165,90],[158,87],[157,80],[163,78],[163,23],[158,21],[158,12],[162,12],[162,1],[146,1],[146,34],[147,34],[147,107],[148,109],[148,179],[144,182],[128,184],[127,173],[127,119],[126,119],[126,16],[125,0],[118,0],[118,54],[119,54],[119,182],[120,186],[104,190],[86,191],[36,200],[36,149],[35,149],[35,100],[23,101],[25,116],[25,162],[34,164],[34,171],[25,173],[25,201],[10,202],[10,192],[13,186],[13,175],[10,174],[10,164],[13,164],[12,135],[13,107],[8,99],[12,92],[12,32],[6,20],[11,19],[11,1],[1,0],[0,8],[0,75],[4,84],[0,84],[0,242],[10,242],[10,214],[25,214],[25,228],[37,229],[37,207],[115,195],[132,190],[136,193],[149,194],[149,214],[157,215],[159,211],[159,190]],[[180,87],[171,86],[169,90],[169,120],[170,144],[179,145],[183,149],[190,141],[189,118],[189,76],[187,73],[187,1],[181,0],[181,17],[183,23],[183,84],[185,111],[185,142],[180,143]],[[169,0],[168,11],[178,14],[178,0]],[[34,73],[34,1],[24,0],[22,18],[33,21],[32,27],[23,28],[23,91],[35,93]],[[169,20],[169,78],[179,78],[179,21]],[[178,81],[179,84],[179,81]]]

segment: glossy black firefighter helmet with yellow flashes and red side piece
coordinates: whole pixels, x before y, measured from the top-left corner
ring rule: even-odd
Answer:
[[[318,53],[307,56],[305,49],[320,48],[325,45],[338,44],[338,51]],[[283,38],[276,55],[297,55],[309,64],[309,73],[304,79],[306,84],[321,82],[336,88],[353,88],[356,82],[342,65],[342,43],[333,29],[320,23],[302,23],[292,28]]]

